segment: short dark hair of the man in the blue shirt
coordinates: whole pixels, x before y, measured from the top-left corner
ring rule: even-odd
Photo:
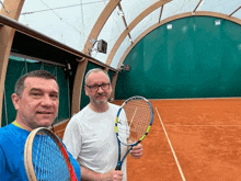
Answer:
[[[43,78],[43,79],[54,79],[57,82],[57,78],[53,73],[50,73],[46,70],[30,71],[30,72],[23,75],[22,77],[20,77],[19,80],[15,83],[14,92],[20,98],[22,97],[22,93],[23,93],[23,90],[24,90],[24,81],[27,77],[37,77],[37,78]]]

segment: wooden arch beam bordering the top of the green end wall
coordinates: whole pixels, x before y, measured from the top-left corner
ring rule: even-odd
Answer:
[[[229,16],[227,14],[222,14],[222,13],[217,13],[217,12],[209,12],[209,11],[197,11],[194,13],[192,12],[187,12],[187,13],[182,13],[182,14],[177,14],[177,15],[173,15],[173,16],[170,16],[163,21],[161,21],[160,23],[156,23],[154,25],[150,26],[148,30],[146,30],[144,33],[141,33],[135,41],[134,41],[134,44],[131,44],[127,50],[123,54],[120,60],[119,60],[119,64],[123,64],[123,61],[125,60],[126,56],[129,54],[129,52],[133,49],[133,47],[141,39],[144,38],[144,36],[146,36],[148,33],[150,33],[151,31],[153,31],[154,29],[168,23],[168,22],[171,22],[171,21],[174,21],[174,20],[179,20],[179,19],[184,19],[184,18],[190,18],[190,16],[213,16],[213,18],[219,18],[219,19],[225,19],[225,20],[228,20],[228,21],[231,21],[231,22],[234,22],[237,24],[240,24],[241,25],[241,20],[240,19],[237,19],[237,18],[233,18],[233,16]]]

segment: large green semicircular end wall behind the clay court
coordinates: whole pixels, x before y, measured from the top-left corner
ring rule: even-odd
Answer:
[[[215,25],[216,20],[221,24]],[[126,57],[124,64],[130,71],[119,72],[115,99],[240,97],[240,35],[239,24],[209,16],[159,26]]]

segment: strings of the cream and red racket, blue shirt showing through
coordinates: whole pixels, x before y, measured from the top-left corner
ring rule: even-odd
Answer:
[[[58,146],[46,134],[37,135],[34,139],[33,165],[39,181],[70,180],[66,161]]]

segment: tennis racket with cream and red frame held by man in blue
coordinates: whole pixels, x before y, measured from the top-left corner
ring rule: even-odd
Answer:
[[[28,135],[24,166],[30,181],[78,181],[62,143],[45,127],[38,127]]]

